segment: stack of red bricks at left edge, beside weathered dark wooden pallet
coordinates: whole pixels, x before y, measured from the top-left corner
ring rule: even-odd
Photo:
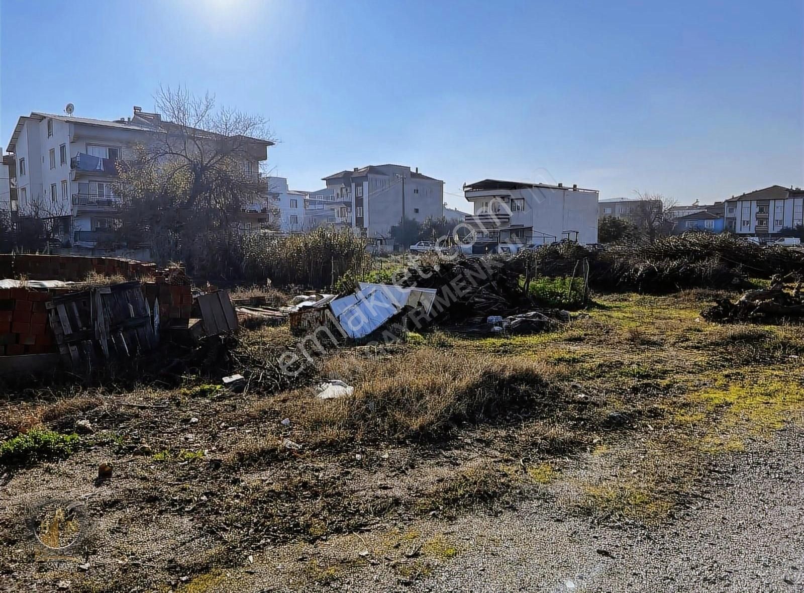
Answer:
[[[0,288],[0,356],[56,352],[46,290]]]

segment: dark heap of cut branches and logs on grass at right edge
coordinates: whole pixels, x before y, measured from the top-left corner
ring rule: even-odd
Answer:
[[[720,299],[701,311],[707,321],[758,321],[780,323],[804,317],[804,293],[801,280],[792,291],[785,290],[781,276],[774,276],[770,288],[757,288],[743,294],[736,302]]]

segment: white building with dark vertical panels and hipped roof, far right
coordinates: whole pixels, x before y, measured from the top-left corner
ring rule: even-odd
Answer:
[[[725,228],[738,235],[777,235],[802,224],[804,190],[769,186],[725,201]]]

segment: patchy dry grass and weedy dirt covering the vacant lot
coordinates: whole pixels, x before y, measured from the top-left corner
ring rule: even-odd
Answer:
[[[11,387],[0,582],[251,591],[269,572],[254,591],[305,590],[381,569],[409,586],[468,551],[453,521],[534,499],[661,530],[705,497],[722,456],[802,421],[800,327],[701,321],[713,296],[598,295],[551,333],[413,333],[332,350],[287,381],[269,373],[293,343],[286,327],[244,329],[232,358],[261,361],[265,376],[242,393],[201,372]],[[355,393],[318,399],[322,378]],[[98,481],[104,463],[113,475]],[[43,500],[84,505],[72,559],[33,544],[25,519]]]

